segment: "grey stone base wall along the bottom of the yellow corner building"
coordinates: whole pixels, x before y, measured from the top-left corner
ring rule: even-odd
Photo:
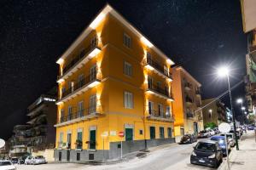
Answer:
[[[148,139],[148,140],[132,140],[122,142],[123,156],[147,147],[154,147],[162,144],[175,143],[175,139]],[[111,142],[110,150],[55,150],[55,161],[85,162],[85,161],[103,161],[118,159],[121,156],[121,142]],[[79,160],[78,160],[79,158]]]

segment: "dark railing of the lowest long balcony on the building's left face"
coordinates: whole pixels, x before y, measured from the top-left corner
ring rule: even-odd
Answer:
[[[101,105],[91,106],[87,109],[67,114],[67,116],[62,116],[60,118],[59,123],[72,121],[74,119],[82,118],[84,116],[95,115],[96,113],[100,113],[100,112],[101,112]]]

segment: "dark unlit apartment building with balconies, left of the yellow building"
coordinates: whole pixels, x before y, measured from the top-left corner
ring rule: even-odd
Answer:
[[[24,156],[39,150],[55,148],[55,123],[57,107],[55,91],[41,95],[27,108],[29,121],[16,125],[10,139],[10,155]]]

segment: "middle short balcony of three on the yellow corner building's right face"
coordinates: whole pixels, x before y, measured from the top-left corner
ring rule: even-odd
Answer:
[[[173,101],[172,94],[169,94],[169,91],[165,88],[160,88],[154,84],[148,84],[148,89],[146,90],[149,94],[154,94],[160,98],[168,99]]]

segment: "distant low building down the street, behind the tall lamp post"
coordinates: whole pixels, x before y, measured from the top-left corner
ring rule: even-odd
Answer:
[[[204,106],[202,109],[204,126],[209,122],[214,122],[217,126],[227,122],[226,107],[219,99],[204,99],[202,105]]]

